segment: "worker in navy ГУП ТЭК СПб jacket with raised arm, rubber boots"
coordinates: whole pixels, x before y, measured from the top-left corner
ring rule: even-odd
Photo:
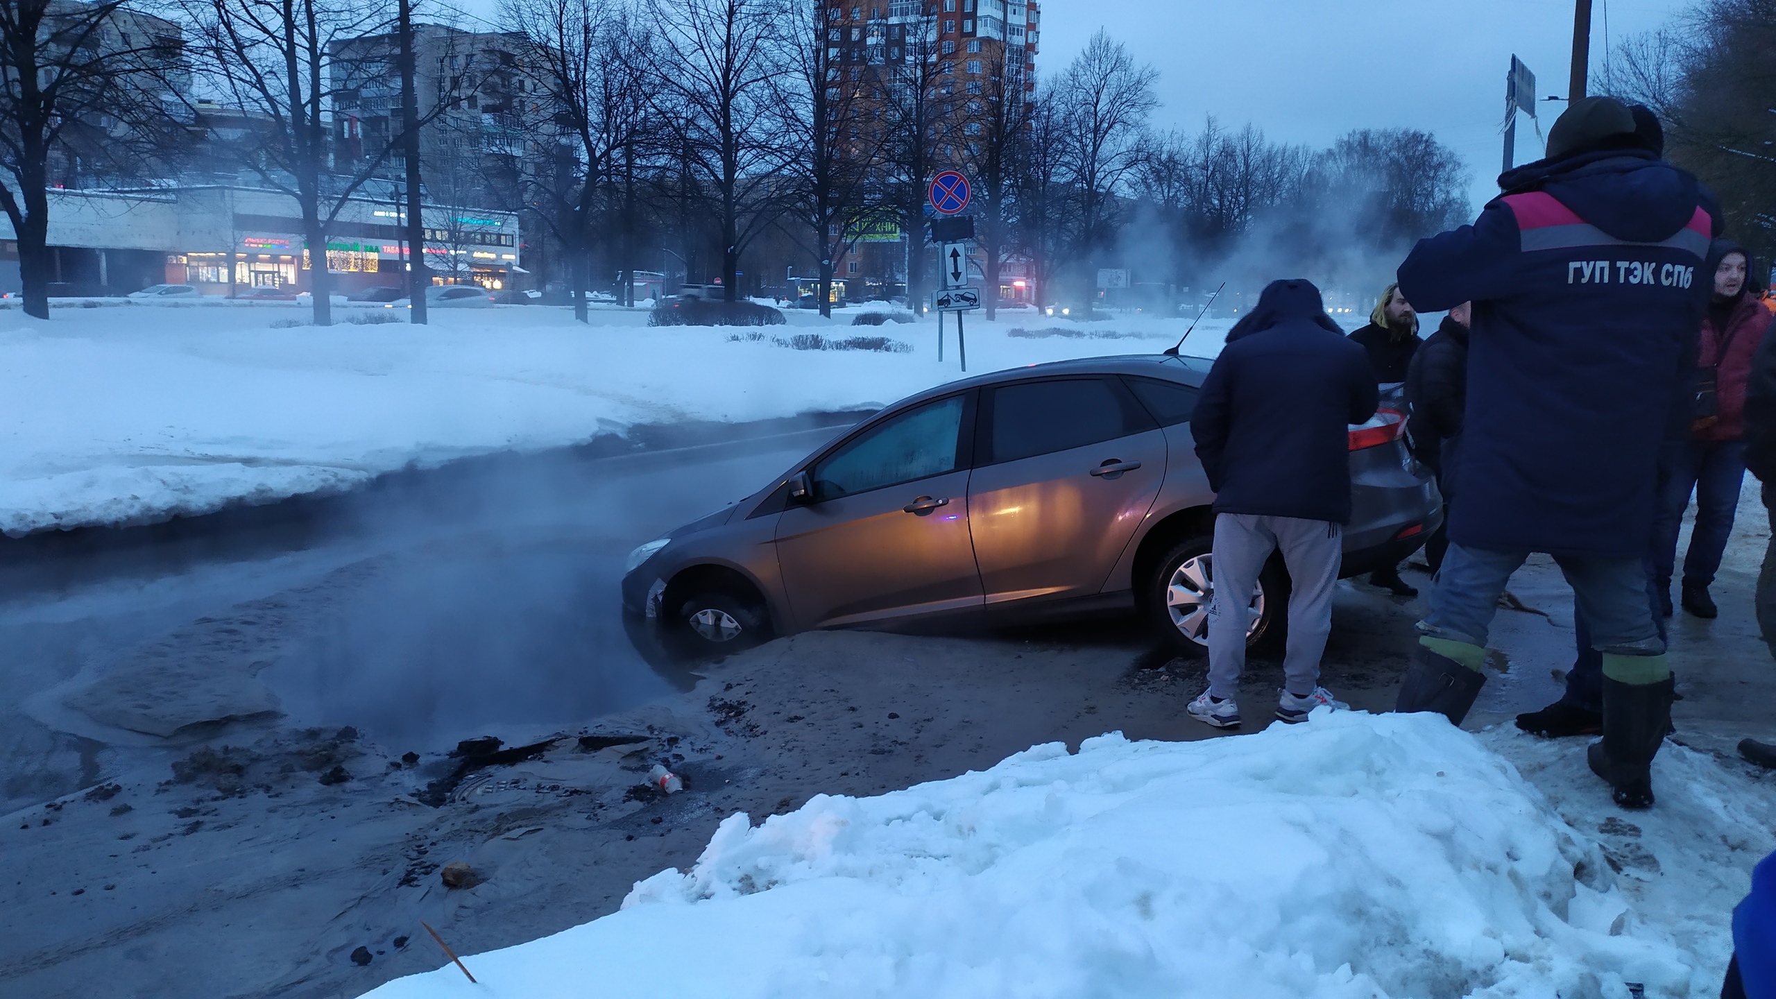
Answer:
[[[1506,172],[1472,226],[1421,240],[1399,267],[1419,308],[1474,302],[1462,501],[1399,709],[1467,716],[1499,594],[1549,553],[1604,659],[1588,763],[1618,805],[1648,807],[1673,683],[1643,556],[1716,222],[1696,178],[1637,148],[1634,124],[1613,98],[1574,101],[1545,160]]]

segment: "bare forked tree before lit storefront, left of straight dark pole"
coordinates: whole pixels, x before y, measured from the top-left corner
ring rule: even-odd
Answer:
[[[332,105],[352,73],[336,71],[348,43],[389,30],[387,11],[364,0],[183,0],[188,52],[204,89],[263,121],[243,164],[295,199],[307,242],[314,324],[332,324],[327,231],[353,194],[382,171],[396,139],[377,139],[336,172]],[[361,68],[353,68],[359,69]],[[391,66],[392,69],[392,66]]]

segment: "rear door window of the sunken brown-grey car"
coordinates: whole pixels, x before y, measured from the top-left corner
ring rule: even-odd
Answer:
[[[1133,400],[1105,379],[1053,379],[993,389],[991,462],[1083,448],[1153,427]]]

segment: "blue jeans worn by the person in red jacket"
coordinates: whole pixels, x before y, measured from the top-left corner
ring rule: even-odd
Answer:
[[[1707,587],[1721,569],[1726,537],[1733,533],[1739,485],[1746,478],[1744,441],[1685,441],[1671,460],[1671,475],[1653,514],[1653,583],[1669,592],[1677,569],[1677,535],[1696,492],[1696,528],[1684,555],[1684,585]]]

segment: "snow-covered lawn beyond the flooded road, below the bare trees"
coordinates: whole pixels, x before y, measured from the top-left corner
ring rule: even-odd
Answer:
[[[339,318],[369,313],[380,309],[345,308]],[[792,309],[789,325],[748,331],[655,329],[646,313],[613,308],[584,327],[545,306],[437,309],[428,327],[329,329],[274,325],[302,322],[309,313],[297,306],[108,304],[57,308],[46,322],[0,311],[0,531],[350,489],[412,462],[572,444],[643,421],[856,409],[959,377],[954,320],[940,364],[934,318],[852,327],[854,313],[828,322]],[[1034,309],[996,324],[973,316],[970,373],[1160,352],[1185,325],[1074,324]],[[1227,325],[1204,322],[1190,350],[1217,352]],[[797,332],[888,336],[911,350],[773,343]]]

